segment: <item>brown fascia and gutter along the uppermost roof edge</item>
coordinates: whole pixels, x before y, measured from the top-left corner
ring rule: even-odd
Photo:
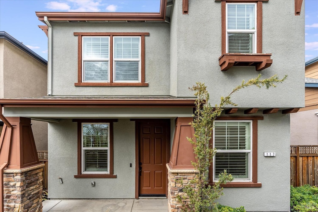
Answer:
[[[35,12],[38,19],[48,21],[164,21],[167,0],[161,0],[159,13],[142,12]]]

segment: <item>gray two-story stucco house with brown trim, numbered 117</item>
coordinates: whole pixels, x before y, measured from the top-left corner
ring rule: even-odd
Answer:
[[[301,4],[162,0],[159,13],[36,12],[48,25],[49,96],[1,99],[4,116],[48,121],[50,198],[163,196],[177,211],[175,177],[195,175],[188,87],[204,82],[213,105],[243,79],[288,74],[277,88],[232,96],[238,108],[215,122],[209,174],[211,183],[224,169],[235,177],[222,204],[289,211],[289,113],[304,107]]]

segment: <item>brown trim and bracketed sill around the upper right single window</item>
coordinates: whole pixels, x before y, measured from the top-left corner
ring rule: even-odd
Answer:
[[[215,0],[221,1],[222,17],[222,55],[219,58],[221,71],[226,71],[232,66],[256,66],[256,71],[261,71],[272,65],[272,54],[262,54],[262,23],[263,23],[263,1],[268,0]],[[226,3],[256,3],[257,26],[256,26],[256,53],[226,53]]]

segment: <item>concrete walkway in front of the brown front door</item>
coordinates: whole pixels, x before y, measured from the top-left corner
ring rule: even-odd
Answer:
[[[167,212],[167,199],[45,200],[43,212]]]

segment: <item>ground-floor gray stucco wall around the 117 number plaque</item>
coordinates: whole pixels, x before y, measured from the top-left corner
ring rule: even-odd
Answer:
[[[257,174],[261,188],[224,188],[218,201],[246,211],[290,210],[289,115],[264,115],[258,121]],[[265,157],[264,152],[275,152]],[[253,153],[254,154],[254,153]]]

